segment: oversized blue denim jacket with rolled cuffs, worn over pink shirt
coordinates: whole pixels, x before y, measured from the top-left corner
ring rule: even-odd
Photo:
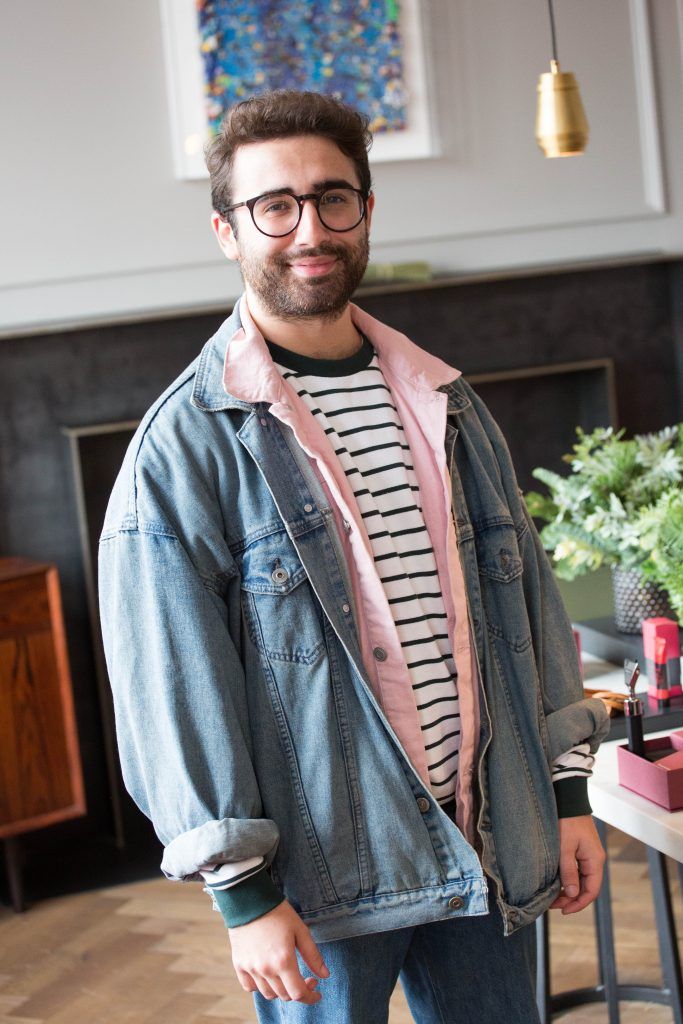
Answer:
[[[507,445],[466,381],[439,388],[478,666],[472,846],[373,691],[316,474],[268,402],[224,388],[239,327],[237,309],[144,416],[100,538],[123,776],[162,870],[265,857],[316,941],[486,913],[490,887],[511,934],[560,889],[552,761],[595,753],[609,719]]]

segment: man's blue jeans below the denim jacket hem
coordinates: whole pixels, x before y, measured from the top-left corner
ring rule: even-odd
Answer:
[[[455,804],[443,808],[454,816]],[[493,891],[493,886],[492,886]],[[507,938],[493,895],[488,913],[318,942],[330,969],[314,1006],[253,993],[259,1024],[387,1024],[400,978],[417,1024],[539,1024],[536,928]],[[297,949],[304,978],[313,974]]]

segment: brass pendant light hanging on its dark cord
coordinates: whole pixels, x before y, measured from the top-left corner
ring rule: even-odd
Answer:
[[[548,8],[553,59],[550,72],[539,76],[536,140],[546,157],[579,157],[588,142],[588,121],[577,79],[570,71],[560,71],[553,0]]]

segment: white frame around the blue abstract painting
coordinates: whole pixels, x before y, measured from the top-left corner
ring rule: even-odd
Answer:
[[[209,129],[196,3],[195,0],[160,0],[160,4],[175,175],[181,179],[207,178],[204,145]],[[409,95],[408,127],[400,131],[376,132],[370,151],[371,164],[437,155],[430,117],[421,0],[400,0],[399,25]]]

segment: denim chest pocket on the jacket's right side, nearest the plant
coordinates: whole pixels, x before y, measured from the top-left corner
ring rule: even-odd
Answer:
[[[531,630],[522,587],[524,565],[512,521],[476,530],[475,544],[488,632],[512,650],[526,650]]]

